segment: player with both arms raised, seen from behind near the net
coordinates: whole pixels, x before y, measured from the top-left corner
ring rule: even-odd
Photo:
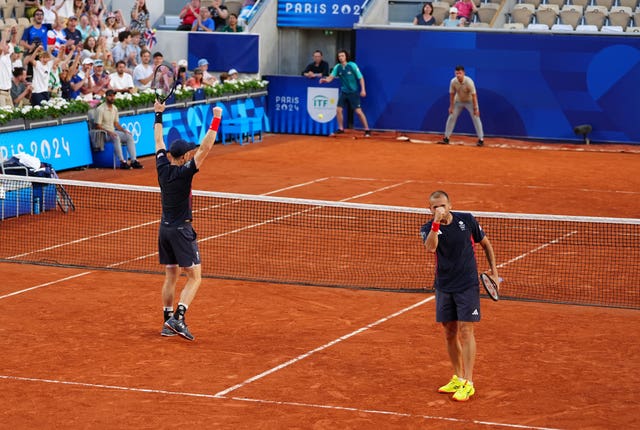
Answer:
[[[164,104],[156,101],[153,136],[156,142],[156,169],[162,195],[162,220],[158,233],[160,264],[165,266],[165,279],[162,285],[162,304],[164,307],[164,327],[162,336],[179,334],[187,340],[194,337],[185,322],[185,313],[200,286],[200,251],[196,241],[196,232],[191,225],[191,182],[193,175],[204,164],[213,147],[220,126],[222,109],[213,108],[213,120],[200,147],[195,151],[193,142],[177,139],[169,146],[164,144],[162,133],[162,112]],[[173,312],[176,284],[180,272],[184,270],[187,283],[182,289],[178,307]]]

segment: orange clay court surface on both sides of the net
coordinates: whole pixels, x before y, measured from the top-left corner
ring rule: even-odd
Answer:
[[[194,189],[408,207],[444,189],[454,210],[640,218],[635,146],[396,137],[216,145]],[[154,158],[141,161],[60,176],[156,186]],[[428,292],[207,278],[189,343],[159,335],[162,276],[0,271],[7,428],[640,426],[634,309],[483,300],[477,391],[460,404],[436,391],[451,369]]]

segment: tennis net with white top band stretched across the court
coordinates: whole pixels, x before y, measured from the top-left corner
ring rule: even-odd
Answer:
[[[40,189],[31,195],[45,203],[2,221],[0,261],[163,273],[158,188],[2,175],[0,185],[3,208],[12,192],[3,190]],[[53,185],[75,210],[47,202],[42,189]],[[427,209],[194,191],[193,212],[206,277],[432,288],[435,257],[419,235]],[[495,249],[503,298],[640,309],[640,220],[473,213]]]

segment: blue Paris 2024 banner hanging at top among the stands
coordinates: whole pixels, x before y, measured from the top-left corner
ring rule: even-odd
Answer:
[[[353,28],[366,0],[278,0],[278,27]]]

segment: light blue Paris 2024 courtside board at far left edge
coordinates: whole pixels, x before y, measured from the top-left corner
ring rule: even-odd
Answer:
[[[11,158],[18,152],[38,157],[58,171],[93,162],[86,122],[0,134],[2,158]]]

